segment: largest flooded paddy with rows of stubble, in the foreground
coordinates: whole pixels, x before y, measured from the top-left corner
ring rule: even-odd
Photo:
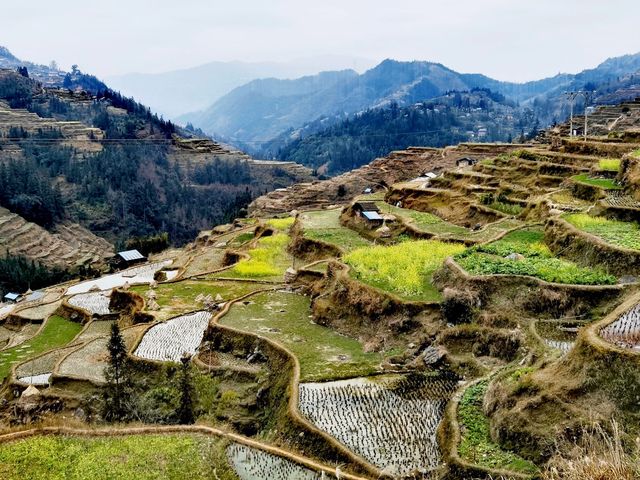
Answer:
[[[456,382],[387,377],[300,385],[300,412],[318,428],[392,475],[440,463],[436,429]]]

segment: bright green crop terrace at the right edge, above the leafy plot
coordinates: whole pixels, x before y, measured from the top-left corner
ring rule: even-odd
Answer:
[[[592,217],[586,213],[565,215],[574,227],[602,238],[605,242],[622,248],[640,250],[640,225],[604,217]]]

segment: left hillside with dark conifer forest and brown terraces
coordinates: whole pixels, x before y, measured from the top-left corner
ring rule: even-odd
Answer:
[[[131,237],[166,232],[183,244],[255,196],[311,178],[197,139],[82,72],[63,84],[73,90],[0,70],[0,207],[25,225],[16,235],[42,232],[3,235],[3,255],[103,267]]]

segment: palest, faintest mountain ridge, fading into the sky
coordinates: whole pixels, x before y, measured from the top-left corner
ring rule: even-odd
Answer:
[[[106,77],[109,86],[133,96],[169,118],[202,110],[234,88],[258,78],[298,78],[323,70],[365,71],[375,62],[340,55],[289,62],[210,62],[166,73],[130,73]]]

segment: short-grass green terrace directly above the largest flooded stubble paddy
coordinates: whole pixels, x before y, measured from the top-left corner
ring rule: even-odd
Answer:
[[[382,361],[362,345],[311,320],[309,298],[288,292],[261,293],[237,303],[220,324],[275,340],[300,360],[304,381],[374,373]]]

